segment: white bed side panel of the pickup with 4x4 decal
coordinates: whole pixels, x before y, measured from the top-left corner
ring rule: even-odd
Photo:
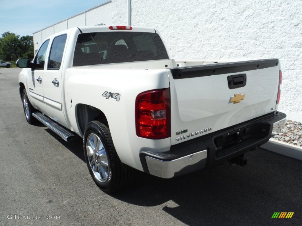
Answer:
[[[65,99],[68,118],[74,131],[83,136],[76,120],[76,106],[86,104],[103,111],[121,161],[133,168],[143,170],[139,158],[140,151],[148,149],[157,152],[168,151],[171,139],[151,140],[137,137],[135,100],[141,92],[169,87],[167,70],[125,68],[99,70],[99,67],[101,66],[66,70]],[[105,92],[118,94],[119,99],[111,96],[107,98],[103,96]]]

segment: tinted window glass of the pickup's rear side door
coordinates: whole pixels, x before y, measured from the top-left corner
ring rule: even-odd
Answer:
[[[50,49],[50,57],[47,69],[59,70],[62,63],[62,56],[65,48],[67,35],[60,35],[53,39]]]

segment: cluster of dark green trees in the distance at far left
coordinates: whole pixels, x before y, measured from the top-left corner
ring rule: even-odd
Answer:
[[[16,61],[20,57],[34,58],[33,36],[19,36],[5,32],[0,38],[0,58],[5,61]]]

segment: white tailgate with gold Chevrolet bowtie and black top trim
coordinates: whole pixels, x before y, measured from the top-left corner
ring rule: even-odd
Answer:
[[[278,59],[170,69],[171,144],[275,111]]]

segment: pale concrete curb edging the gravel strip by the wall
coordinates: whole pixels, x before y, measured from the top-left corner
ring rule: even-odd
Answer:
[[[272,138],[260,147],[302,161],[302,147],[288,144]]]

